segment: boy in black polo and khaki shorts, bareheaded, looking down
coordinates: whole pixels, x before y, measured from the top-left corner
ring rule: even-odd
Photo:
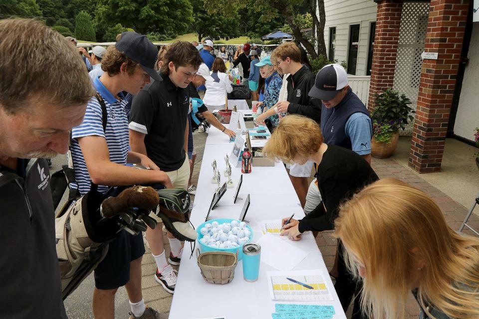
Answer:
[[[130,147],[133,152],[147,155],[168,174],[175,188],[188,188],[190,165],[188,152],[188,85],[195,77],[202,60],[193,44],[179,41],[169,45],[163,57],[161,76],[145,86],[133,99],[130,114]],[[187,227],[188,225],[185,225]],[[148,228],[148,243],[157,264],[155,280],[168,292],[175,290],[176,277],[162,277],[173,271],[166,262],[162,227]],[[179,265],[182,247],[168,233],[171,253],[169,262]],[[174,272],[174,271],[173,271]]]

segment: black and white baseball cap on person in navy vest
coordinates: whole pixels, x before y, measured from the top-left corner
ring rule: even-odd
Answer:
[[[346,85],[348,85],[346,70],[339,64],[328,64],[319,70],[308,95],[319,100],[331,101]]]

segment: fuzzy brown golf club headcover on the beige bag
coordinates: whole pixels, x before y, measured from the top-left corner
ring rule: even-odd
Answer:
[[[100,206],[101,215],[111,218],[128,208],[137,207],[156,211],[158,206],[158,192],[152,187],[133,186],[123,190],[116,197],[105,199]]]

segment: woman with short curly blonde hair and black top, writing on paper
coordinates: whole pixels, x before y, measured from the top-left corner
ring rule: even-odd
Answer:
[[[312,160],[317,164],[317,187],[322,201],[301,220],[283,218],[284,231],[281,235],[291,240],[301,239],[301,233],[323,231],[334,228],[334,219],[338,216],[339,205],[349,199],[365,185],[378,179],[369,163],[351,150],[336,145],[326,145],[319,125],[312,119],[300,115],[288,115],[279,121],[271,134],[271,138],[263,148],[270,158],[284,162],[304,164]],[[338,244],[339,252],[343,246]],[[354,295],[359,294],[360,286],[346,270],[346,265],[338,258],[338,277],[334,288],[338,293],[343,310],[346,311]],[[352,319],[365,318],[359,307],[359,299],[355,299]]]

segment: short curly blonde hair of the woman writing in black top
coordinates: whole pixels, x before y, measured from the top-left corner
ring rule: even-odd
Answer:
[[[272,159],[284,162],[304,160],[316,153],[323,143],[319,125],[301,115],[288,115],[279,121],[263,153]]]

